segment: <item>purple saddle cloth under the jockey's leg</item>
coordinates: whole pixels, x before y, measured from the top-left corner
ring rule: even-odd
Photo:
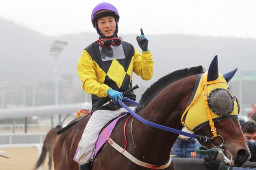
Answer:
[[[109,125],[107,125],[104,129],[105,129],[105,132],[107,133],[108,136],[111,135],[117,121],[119,119],[121,119],[122,117],[126,116],[126,114],[122,115],[122,116],[119,116],[119,117],[116,117],[115,120],[113,120]],[[93,159],[95,158],[95,156],[97,155],[98,151],[100,150],[100,148],[103,146],[103,144],[105,144],[105,142],[107,141],[107,138],[105,136],[105,134],[103,133],[103,131],[101,131],[99,133],[99,137],[97,139],[97,142],[96,142],[96,145],[95,145],[95,148],[94,148],[94,152],[93,152]],[[76,156],[77,156],[77,153],[78,153],[79,149],[77,148],[76,149],[76,154],[73,158],[74,161],[78,162],[78,160],[76,159]]]

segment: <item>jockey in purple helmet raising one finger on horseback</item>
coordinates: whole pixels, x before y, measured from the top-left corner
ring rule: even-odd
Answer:
[[[123,100],[121,92],[132,88],[132,72],[144,80],[153,75],[152,54],[148,50],[148,39],[137,36],[137,42],[142,49],[142,55],[128,42],[118,37],[119,13],[110,3],[100,3],[93,8],[91,21],[99,34],[99,40],[87,46],[78,62],[78,76],[83,89],[92,94],[92,110],[105,104],[111,99],[113,102],[95,111],[90,117],[79,142],[77,159],[79,170],[90,170],[90,157],[93,156],[98,134],[102,127],[111,119],[118,116],[125,108],[115,104],[117,98]],[[136,100],[133,91],[124,96]],[[135,105],[125,103],[135,110]]]

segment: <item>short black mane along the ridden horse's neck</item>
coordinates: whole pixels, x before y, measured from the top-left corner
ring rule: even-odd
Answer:
[[[162,91],[169,84],[176,82],[180,79],[204,73],[204,68],[200,65],[197,67],[184,68],[182,70],[176,70],[166,76],[158,79],[154,82],[141,96],[139,109],[144,108],[148,103],[156,96],[160,91]]]

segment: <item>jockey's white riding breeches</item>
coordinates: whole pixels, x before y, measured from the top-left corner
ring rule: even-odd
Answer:
[[[130,108],[134,111],[136,107]],[[78,159],[79,165],[89,163],[90,157],[93,156],[93,150],[99,136],[99,131],[102,127],[124,111],[127,110],[125,108],[120,108],[115,111],[98,110],[92,114],[78,144],[79,152],[76,158]]]

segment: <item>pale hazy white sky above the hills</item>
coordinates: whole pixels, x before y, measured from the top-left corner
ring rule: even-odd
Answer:
[[[0,0],[0,17],[44,35],[96,32],[90,16],[102,0]],[[256,38],[256,0],[108,0],[119,33]]]

